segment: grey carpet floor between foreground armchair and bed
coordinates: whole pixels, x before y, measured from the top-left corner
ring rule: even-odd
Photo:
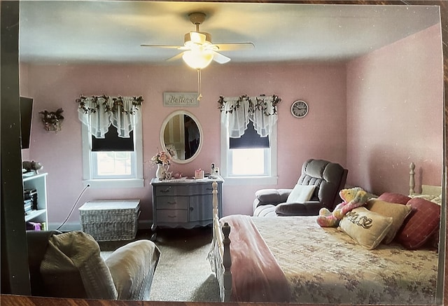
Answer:
[[[150,239],[151,234],[150,230],[139,230],[136,239]],[[208,227],[158,229],[155,244],[161,255],[151,286],[151,300],[220,301],[218,281],[207,260],[211,235]],[[102,256],[106,258],[128,242],[99,242]]]

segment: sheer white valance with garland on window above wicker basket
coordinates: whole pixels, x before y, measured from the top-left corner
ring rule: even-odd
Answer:
[[[142,97],[109,97],[106,95],[76,99],[79,120],[90,127],[94,137],[104,138],[104,134],[113,125],[118,137],[129,138],[129,133],[141,120],[139,106]]]

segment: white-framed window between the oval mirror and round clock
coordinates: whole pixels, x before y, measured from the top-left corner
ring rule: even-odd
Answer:
[[[238,120],[247,116],[237,114],[237,109],[245,101],[251,103],[251,98],[241,96],[233,100],[234,104],[225,106],[225,103],[232,102],[232,98],[223,98],[221,101],[221,174],[225,176],[225,182],[276,184],[276,120],[265,120],[271,124],[263,127],[265,135],[262,137],[255,130],[253,119],[249,120],[247,128],[242,120]],[[225,113],[226,108],[232,111]],[[241,109],[256,107],[242,106]],[[230,122],[233,123],[232,127]]]

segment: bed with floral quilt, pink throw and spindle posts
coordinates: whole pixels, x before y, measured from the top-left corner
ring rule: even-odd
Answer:
[[[441,202],[442,188],[421,186],[422,193],[416,193],[414,167],[414,164],[409,167],[409,195],[388,193],[386,200],[391,196],[394,201],[397,197],[405,201],[416,198],[412,201],[425,204],[425,209],[430,207],[435,214],[438,209],[440,218],[437,200]],[[425,242],[409,249],[394,240],[366,249],[347,231],[321,228],[316,216],[235,215],[220,219],[215,183],[213,194],[214,238],[209,260],[223,302],[435,303],[437,246],[434,244]],[[382,196],[374,201],[381,202]],[[409,218],[417,214],[414,206],[412,211]],[[342,227],[342,221],[339,225]],[[403,224],[400,230],[406,227]],[[437,232],[433,229],[431,236],[438,238]]]

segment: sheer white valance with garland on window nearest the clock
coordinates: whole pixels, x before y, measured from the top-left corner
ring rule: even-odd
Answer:
[[[219,97],[221,121],[229,130],[232,138],[241,137],[247,129],[249,120],[255,131],[266,137],[277,121],[277,104],[281,99],[276,96],[260,95],[258,97]]]

